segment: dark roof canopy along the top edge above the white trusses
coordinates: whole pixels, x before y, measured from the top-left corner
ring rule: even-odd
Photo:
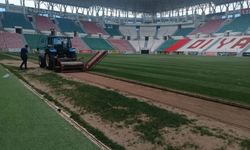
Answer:
[[[178,8],[185,8],[198,4],[212,2],[215,5],[237,2],[242,0],[40,0],[71,6],[88,8],[90,6],[103,6],[117,8],[125,11],[155,14]]]

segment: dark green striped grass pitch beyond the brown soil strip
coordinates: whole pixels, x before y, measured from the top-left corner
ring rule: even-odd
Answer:
[[[247,57],[108,55],[91,72],[250,105]]]

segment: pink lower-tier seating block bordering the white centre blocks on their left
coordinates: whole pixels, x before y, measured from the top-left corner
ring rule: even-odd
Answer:
[[[108,39],[107,41],[119,51],[130,51],[130,52],[134,51],[133,48],[128,44],[126,40]]]

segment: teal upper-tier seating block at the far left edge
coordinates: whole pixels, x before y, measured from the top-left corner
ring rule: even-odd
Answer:
[[[31,23],[26,21],[23,14],[3,12],[4,19],[2,19],[2,25],[4,28],[15,28],[15,26],[22,27],[23,29],[34,30]]]

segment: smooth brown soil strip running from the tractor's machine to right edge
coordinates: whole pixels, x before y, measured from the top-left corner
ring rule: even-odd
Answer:
[[[189,97],[86,72],[65,73],[65,75],[123,91],[135,96],[143,97],[161,104],[186,110],[197,115],[206,116],[239,128],[250,130],[250,110],[247,109]]]

